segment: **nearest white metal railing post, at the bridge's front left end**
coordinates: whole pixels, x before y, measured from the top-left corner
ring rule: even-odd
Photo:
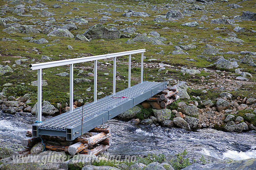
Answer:
[[[37,70],[37,122],[42,121],[42,68]]]

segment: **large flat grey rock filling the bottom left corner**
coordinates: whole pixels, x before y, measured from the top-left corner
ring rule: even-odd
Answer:
[[[23,158],[15,158],[11,162],[0,165],[1,170],[58,170],[60,168],[67,169],[65,152],[44,151],[37,155],[29,155]],[[50,160],[50,161],[48,161]],[[18,167],[18,168],[17,168]]]

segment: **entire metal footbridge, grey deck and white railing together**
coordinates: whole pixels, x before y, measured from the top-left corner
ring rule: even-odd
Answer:
[[[100,56],[83,57],[54,62],[31,64],[30,69],[38,71],[38,107],[37,122],[32,126],[32,136],[40,135],[62,136],[67,141],[72,141],[81,134],[88,132],[107,120],[121,114],[144,100],[164,90],[166,82],[142,81],[143,78],[143,52],[142,50],[112,53]],[[131,54],[141,53],[141,83],[130,87],[131,77]],[[116,57],[129,56],[128,88],[115,93],[116,74],[113,75],[113,94],[97,100],[97,60],[114,58],[114,73],[116,72]],[[73,109],[73,64],[80,62],[94,61],[94,102],[79,108]],[[55,67],[70,64],[70,111],[42,120],[42,68]],[[71,68],[72,67],[72,68]],[[71,96],[72,95],[72,96]],[[83,118],[82,118],[83,115]],[[83,120],[83,121],[82,121]]]

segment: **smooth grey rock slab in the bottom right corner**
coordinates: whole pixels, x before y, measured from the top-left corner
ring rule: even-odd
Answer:
[[[210,163],[202,165],[200,163],[193,163],[186,168],[181,170],[217,170],[217,169],[225,169],[225,170],[248,170],[248,169],[255,169],[256,167],[256,159],[244,159],[239,161],[233,161],[230,163]]]

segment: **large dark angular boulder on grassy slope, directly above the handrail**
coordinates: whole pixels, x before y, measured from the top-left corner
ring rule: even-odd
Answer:
[[[104,25],[96,24],[89,29],[87,29],[84,33],[86,38],[103,38],[103,39],[116,39],[121,37],[121,32],[118,29],[108,29]]]

